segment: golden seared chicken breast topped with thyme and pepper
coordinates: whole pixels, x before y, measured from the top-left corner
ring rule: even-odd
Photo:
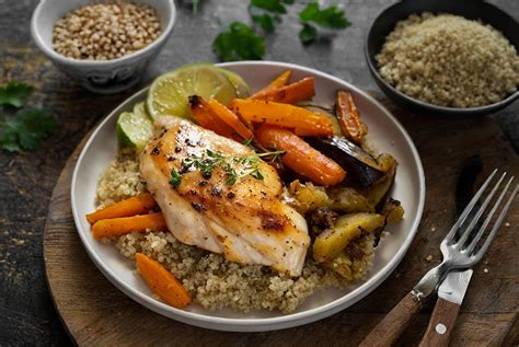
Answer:
[[[249,147],[189,122],[163,117],[155,126],[140,173],[175,238],[232,262],[299,276],[310,245],[308,225],[280,201],[277,172]],[[253,159],[260,175],[251,175],[251,163],[240,159]],[[207,165],[186,165],[194,160]],[[234,183],[232,172],[240,176]]]

